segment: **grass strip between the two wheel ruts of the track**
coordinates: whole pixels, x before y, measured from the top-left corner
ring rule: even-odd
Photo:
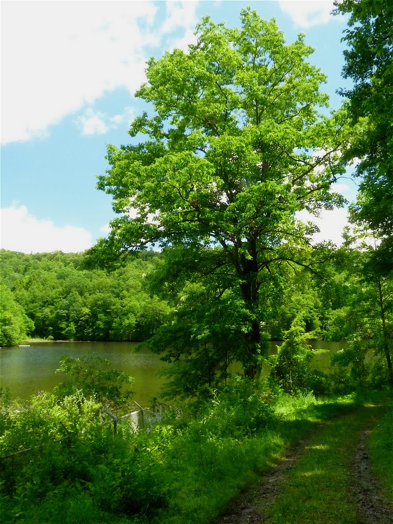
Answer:
[[[380,414],[378,406],[358,407],[328,422],[326,429],[305,446],[297,464],[287,470],[281,495],[267,510],[267,523],[357,524],[359,517],[351,496],[353,450],[359,431]]]

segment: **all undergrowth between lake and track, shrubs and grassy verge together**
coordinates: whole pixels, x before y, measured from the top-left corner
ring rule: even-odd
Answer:
[[[147,431],[134,433],[123,422],[115,437],[111,426],[99,427],[94,399],[43,396],[6,405],[0,455],[32,445],[34,434],[45,445],[2,459],[2,520],[207,524],[288,445],[356,402],[356,395],[290,396],[238,379],[198,409],[168,410]],[[62,441],[53,442],[59,434]]]

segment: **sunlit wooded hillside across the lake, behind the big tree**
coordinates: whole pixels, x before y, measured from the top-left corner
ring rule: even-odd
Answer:
[[[159,253],[144,252],[108,273],[84,269],[83,253],[26,255],[1,250],[0,345],[18,344],[26,337],[147,340],[168,315],[172,318],[171,312],[179,313],[179,307],[187,305],[183,299],[179,303],[182,293],[176,297],[162,293],[158,289],[162,282],[155,290],[153,270],[161,259]],[[268,288],[265,331],[275,340],[282,338],[299,313],[310,336],[323,336],[332,310],[341,308],[344,300],[340,279],[331,275],[328,285],[307,272],[287,271],[286,278],[277,275]],[[187,318],[185,314],[183,322]]]

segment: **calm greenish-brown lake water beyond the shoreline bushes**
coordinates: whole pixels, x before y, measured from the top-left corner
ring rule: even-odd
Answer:
[[[276,352],[280,342],[271,342],[271,352]],[[345,343],[310,341],[314,349],[335,352]],[[50,391],[64,375],[55,373],[59,359],[95,354],[107,358],[116,369],[135,378],[134,399],[143,407],[159,397],[163,378],[157,372],[164,365],[160,357],[148,351],[136,352],[133,342],[45,342],[31,343],[29,347],[3,347],[0,350],[0,386],[8,387],[13,398],[26,398],[38,391]],[[315,367],[329,368],[330,354],[316,355]]]

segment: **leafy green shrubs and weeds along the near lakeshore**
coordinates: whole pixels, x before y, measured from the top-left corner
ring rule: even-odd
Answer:
[[[123,422],[114,436],[110,426],[101,426],[97,415],[102,408],[80,391],[61,400],[43,394],[3,405],[4,520],[13,521],[18,514],[29,522],[60,522],[57,511],[63,508],[64,515],[71,515],[61,516],[66,522],[112,522],[115,515],[154,516],[177,497],[185,506],[184,495],[199,485],[201,476],[214,478],[218,486],[226,477],[222,473],[234,473],[251,449],[246,442],[239,447],[238,439],[255,438],[274,418],[256,385],[242,380],[204,405],[202,418],[189,419],[183,430],[162,422],[149,432],[133,433]],[[275,439],[261,440],[267,453],[276,449]],[[27,446],[32,446],[30,452],[4,458]],[[249,477],[249,467],[243,461],[243,477]]]

